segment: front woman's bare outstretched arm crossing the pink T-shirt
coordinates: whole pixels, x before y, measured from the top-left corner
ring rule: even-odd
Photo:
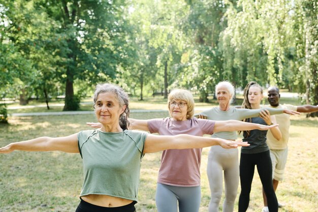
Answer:
[[[220,145],[223,148],[249,146],[247,142],[230,141],[221,138],[201,137],[186,134],[174,136],[148,134],[143,153],[155,153],[165,149],[203,148],[213,145]]]

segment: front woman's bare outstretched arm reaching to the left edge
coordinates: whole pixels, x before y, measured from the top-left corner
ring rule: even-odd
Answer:
[[[0,153],[11,153],[14,150],[29,152],[46,152],[59,150],[66,153],[79,153],[77,133],[66,137],[39,137],[31,140],[10,143],[0,148]]]

